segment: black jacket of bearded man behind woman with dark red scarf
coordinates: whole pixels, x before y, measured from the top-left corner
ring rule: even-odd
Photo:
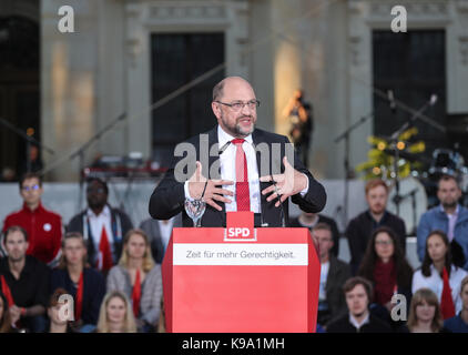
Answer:
[[[353,275],[356,274],[359,267],[373,231],[383,225],[394,230],[398,240],[400,241],[400,246],[405,252],[406,226],[405,222],[400,217],[386,211],[380,222],[377,224],[372,217],[369,211],[363,212],[354,217],[346,229],[346,237],[348,239],[349,252],[352,256],[350,265]]]

